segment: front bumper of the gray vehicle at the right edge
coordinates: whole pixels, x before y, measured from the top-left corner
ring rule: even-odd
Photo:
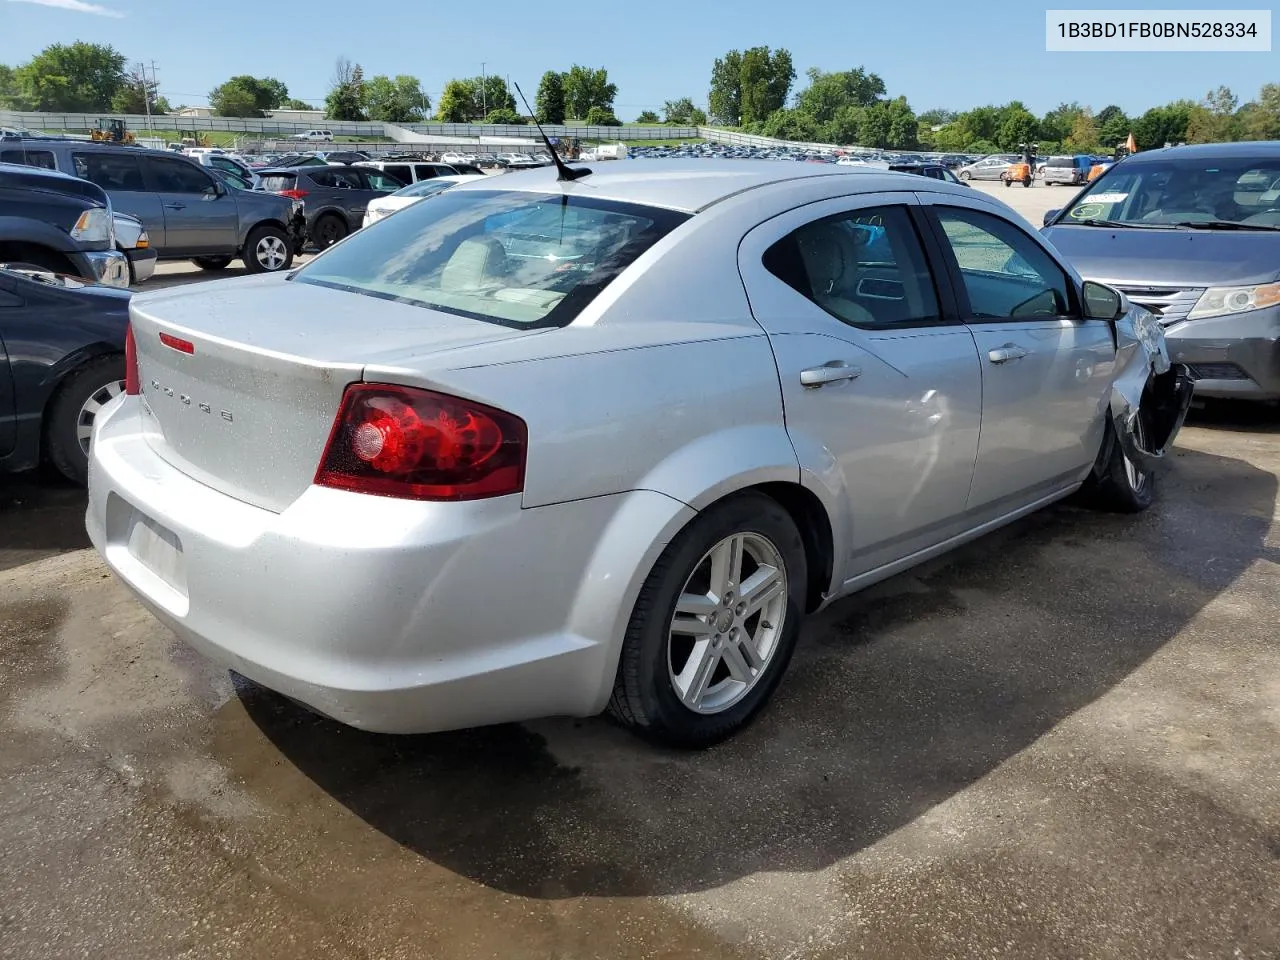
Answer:
[[[1184,320],[1165,338],[1170,357],[1190,367],[1196,396],[1280,399],[1280,307]]]

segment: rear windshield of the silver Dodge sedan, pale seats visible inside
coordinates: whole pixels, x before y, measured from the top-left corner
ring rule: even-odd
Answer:
[[[506,326],[564,326],[687,219],[590,197],[447,189],[348,237],[294,279]]]

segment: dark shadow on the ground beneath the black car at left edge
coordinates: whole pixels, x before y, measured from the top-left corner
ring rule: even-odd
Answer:
[[[0,475],[0,571],[88,547],[83,486],[50,470]]]

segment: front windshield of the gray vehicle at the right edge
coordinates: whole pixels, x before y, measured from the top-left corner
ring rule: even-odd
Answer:
[[[1280,227],[1280,157],[1178,157],[1121,163],[1093,182],[1059,223],[1194,229]]]

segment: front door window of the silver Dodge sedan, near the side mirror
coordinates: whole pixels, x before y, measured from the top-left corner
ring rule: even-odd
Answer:
[[[1066,274],[1018,227],[977,210],[934,211],[960,268],[970,317],[1025,320],[1070,312]]]

